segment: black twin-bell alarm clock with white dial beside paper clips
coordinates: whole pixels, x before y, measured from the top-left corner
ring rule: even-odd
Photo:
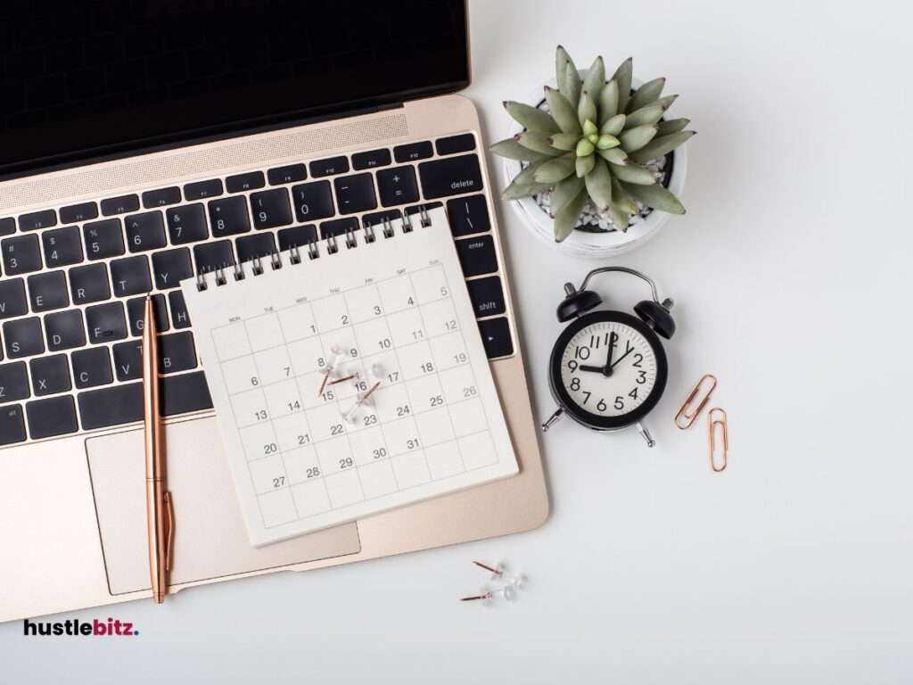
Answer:
[[[610,271],[630,274],[650,285],[652,299],[626,311],[593,311],[603,303],[587,290],[596,274]],[[571,321],[558,336],[549,360],[549,386],[558,409],[542,424],[547,431],[561,416],[570,416],[599,431],[634,426],[648,447],[656,445],[644,418],[666,390],[668,365],[660,338],[669,340],[676,324],[669,310],[675,302],[659,301],[656,283],[635,269],[603,267],[583,279],[580,290],[564,285],[558,321]]]

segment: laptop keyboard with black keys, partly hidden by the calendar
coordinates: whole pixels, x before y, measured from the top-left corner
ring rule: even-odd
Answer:
[[[489,359],[514,353],[472,133],[0,217],[0,446],[142,420],[143,300],[163,416],[212,408],[179,289],[446,205]]]

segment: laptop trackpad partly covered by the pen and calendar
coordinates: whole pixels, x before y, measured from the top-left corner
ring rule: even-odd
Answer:
[[[171,585],[361,551],[355,523],[251,547],[215,417],[171,424],[165,437],[175,519]],[[142,428],[89,438],[86,451],[110,593],[148,590]]]

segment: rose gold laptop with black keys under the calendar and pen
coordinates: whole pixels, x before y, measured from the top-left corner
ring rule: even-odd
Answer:
[[[470,79],[465,3],[75,0],[4,15],[0,620],[151,595],[142,406],[128,387],[142,377],[147,291],[182,503],[172,593],[545,520],[485,144],[456,95]],[[373,184],[353,209],[345,179],[356,173]],[[251,547],[179,281],[435,206],[519,476]]]

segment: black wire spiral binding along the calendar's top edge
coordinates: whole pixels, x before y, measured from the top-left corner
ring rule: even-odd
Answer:
[[[330,236],[320,238],[320,240],[314,239],[310,240],[307,245],[296,245],[282,251],[274,250],[266,258],[256,257],[241,264],[234,264],[231,267],[219,267],[218,269],[210,271],[197,271],[196,290],[202,292],[203,290],[208,290],[211,285],[220,287],[233,280],[240,281],[245,280],[248,277],[262,276],[267,272],[267,269],[270,271],[278,271],[278,269],[282,269],[286,266],[299,265],[305,262],[305,260],[310,261],[311,259],[320,259],[327,255],[333,255],[341,250],[340,243],[344,245],[347,250],[350,250],[359,248],[362,245],[369,245],[377,242],[378,236],[383,237],[383,239],[392,238],[396,235],[397,225],[401,234],[412,233],[415,231],[415,225],[413,224],[415,216],[418,217],[417,225],[419,227],[427,228],[431,226],[431,217],[428,216],[425,205],[422,205],[415,215],[404,212],[403,216],[399,219],[394,219],[393,221],[384,218],[383,222],[378,225],[379,231],[375,231],[375,228],[371,224],[366,224],[362,228],[357,228],[355,230],[349,229],[345,234],[341,234],[338,237]],[[338,240],[337,238],[343,239]],[[268,265],[267,268],[264,268],[265,260]]]

